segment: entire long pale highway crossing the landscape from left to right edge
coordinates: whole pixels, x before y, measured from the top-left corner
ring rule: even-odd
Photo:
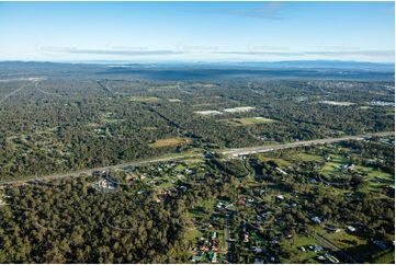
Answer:
[[[315,146],[315,145],[325,145],[325,143],[332,143],[332,142],[339,142],[344,140],[363,140],[369,137],[373,136],[394,136],[394,131],[384,131],[384,132],[375,132],[375,134],[366,134],[366,135],[360,135],[360,136],[346,136],[341,138],[327,138],[327,139],[318,139],[318,140],[310,140],[310,141],[296,141],[291,143],[284,143],[284,145],[276,145],[276,146],[260,146],[260,147],[249,147],[249,148],[238,148],[238,149],[225,149],[225,150],[218,150],[217,153],[220,153],[228,158],[237,158],[240,155],[248,155],[253,153],[262,153],[262,152],[270,152],[270,151],[276,151],[276,150],[283,150],[283,149],[291,149],[291,148],[297,148],[297,147],[307,147],[307,146]],[[216,152],[216,151],[215,151]],[[178,160],[189,160],[194,158],[201,158],[203,157],[202,153],[181,153],[181,154],[174,154],[170,157],[165,158],[152,158],[152,159],[146,159],[142,161],[135,161],[135,162],[126,162],[122,164],[115,164],[115,165],[108,165],[108,166],[100,166],[94,169],[84,169],[76,172],[69,172],[69,173],[60,173],[60,174],[50,174],[46,176],[41,176],[37,178],[37,176],[31,176],[26,177],[24,180],[20,181],[9,181],[9,182],[0,182],[1,186],[7,185],[18,185],[23,184],[32,181],[52,181],[63,177],[70,177],[70,176],[79,176],[81,174],[89,175],[92,174],[94,171],[105,171],[109,169],[123,169],[128,166],[138,166],[138,165],[145,165],[150,163],[158,163],[158,162],[170,162],[170,161],[178,161]]]

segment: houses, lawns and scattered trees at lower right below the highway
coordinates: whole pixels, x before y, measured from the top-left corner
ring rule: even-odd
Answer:
[[[392,263],[393,153],[391,141],[373,139],[228,162],[239,184],[190,210],[194,258],[212,261],[203,253],[216,232],[234,263]]]

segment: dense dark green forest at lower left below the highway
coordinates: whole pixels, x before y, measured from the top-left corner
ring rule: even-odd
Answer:
[[[94,188],[98,176],[7,189],[2,196],[8,205],[0,208],[0,262],[185,262],[186,206],[224,195],[235,182],[210,161],[205,170],[191,168],[189,181],[177,183],[184,188],[172,188],[167,196],[158,192],[161,186],[138,178],[100,192]]]

